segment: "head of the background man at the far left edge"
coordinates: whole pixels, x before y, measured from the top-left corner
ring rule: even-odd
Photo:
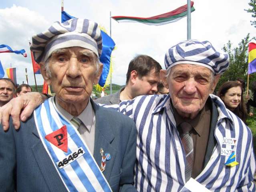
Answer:
[[[0,107],[8,103],[14,96],[15,84],[9,78],[0,79]]]

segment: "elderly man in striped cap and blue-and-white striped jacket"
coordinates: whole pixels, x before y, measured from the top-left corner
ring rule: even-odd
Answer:
[[[208,41],[179,42],[160,72],[169,94],[120,103],[137,126],[138,191],[255,191],[252,133],[211,94],[228,66]]]

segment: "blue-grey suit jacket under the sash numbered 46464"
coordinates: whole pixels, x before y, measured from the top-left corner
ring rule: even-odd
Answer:
[[[100,148],[111,154],[103,171],[113,191],[136,191],[133,170],[136,158],[136,128],[133,120],[93,103],[96,115],[94,158],[101,165]],[[19,131],[0,127],[1,192],[65,192],[64,184],[36,130],[33,115]]]

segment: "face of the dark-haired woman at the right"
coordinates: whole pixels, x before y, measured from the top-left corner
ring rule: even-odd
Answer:
[[[224,96],[221,97],[226,107],[234,110],[241,102],[242,89],[240,86],[230,88]]]

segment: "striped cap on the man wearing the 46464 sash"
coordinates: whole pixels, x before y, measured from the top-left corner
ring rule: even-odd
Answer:
[[[101,56],[102,37],[98,24],[87,19],[70,19],[54,22],[48,30],[32,36],[30,50],[37,63],[45,62],[54,50],[82,47]]]

